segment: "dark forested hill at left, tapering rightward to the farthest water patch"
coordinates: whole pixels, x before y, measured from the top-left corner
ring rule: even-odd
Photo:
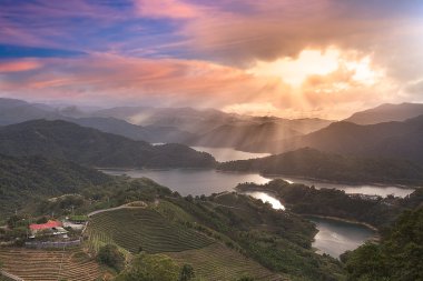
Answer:
[[[67,121],[47,120],[0,129],[0,153],[119,168],[203,168],[216,163],[210,154],[183,144],[151,145]]]

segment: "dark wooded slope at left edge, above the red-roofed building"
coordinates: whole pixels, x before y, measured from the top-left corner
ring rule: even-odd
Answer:
[[[68,161],[0,154],[0,218],[37,199],[78,192],[111,180],[105,173]]]

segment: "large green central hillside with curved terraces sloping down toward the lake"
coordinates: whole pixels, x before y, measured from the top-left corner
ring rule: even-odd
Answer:
[[[315,232],[309,221],[246,195],[174,193],[148,207],[94,214],[86,233],[94,250],[112,243],[131,253],[166,253],[205,280],[338,280],[340,263],[311,247]]]

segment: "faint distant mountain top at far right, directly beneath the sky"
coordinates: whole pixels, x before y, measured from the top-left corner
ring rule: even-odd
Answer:
[[[404,121],[422,114],[423,103],[384,103],[376,108],[356,112],[345,121],[356,124],[375,124],[388,121]]]

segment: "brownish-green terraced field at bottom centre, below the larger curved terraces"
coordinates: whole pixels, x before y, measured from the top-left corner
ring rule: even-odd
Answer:
[[[191,264],[196,275],[208,281],[236,280],[243,275],[254,277],[255,280],[263,281],[284,280],[257,262],[220,243],[215,243],[203,249],[168,252],[165,254],[171,257],[180,264]]]

